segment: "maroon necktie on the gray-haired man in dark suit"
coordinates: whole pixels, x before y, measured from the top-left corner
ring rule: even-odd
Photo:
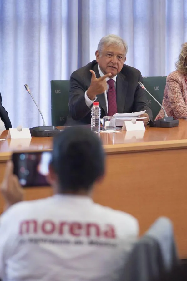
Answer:
[[[107,83],[109,84],[109,90],[107,92],[107,100],[108,100],[108,116],[113,116],[117,113],[117,103],[116,103],[116,90],[114,87],[114,80],[109,79]]]

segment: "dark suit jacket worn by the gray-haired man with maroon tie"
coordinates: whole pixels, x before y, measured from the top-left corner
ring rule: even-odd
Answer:
[[[84,98],[84,93],[89,88],[91,82],[90,69],[94,70],[97,78],[100,77],[96,61],[90,62],[86,66],[74,71],[70,77],[69,111],[73,120],[68,116],[66,125],[91,123],[91,108],[88,108]],[[152,120],[153,115],[147,103],[145,91],[139,87],[138,81],[143,83],[140,71],[124,64],[116,78],[118,113],[146,110],[146,113]],[[103,118],[103,116],[107,116],[104,93],[97,95],[97,101],[99,101],[101,118]]]

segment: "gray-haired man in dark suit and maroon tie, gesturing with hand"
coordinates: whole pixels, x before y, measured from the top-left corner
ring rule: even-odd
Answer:
[[[101,118],[115,113],[146,110],[141,117],[146,125],[152,120],[152,111],[145,92],[138,82],[143,82],[140,71],[125,65],[126,43],[116,35],[103,37],[95,52],[96,61],[74,71],[70,77],[69,110],[72,118],[66,125],[90,124],[91,108],[99,101]],[[73,120],[74,121],[73,121]]]

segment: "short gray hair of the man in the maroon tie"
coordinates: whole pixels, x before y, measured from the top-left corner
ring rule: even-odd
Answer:
[[[99,41],[99,44],[97,46],[99,53],[102,52],[104,45],[105,46],[109,46],[109,45],[123,46],[125,49],[125,56],[128,51],[127,43],[121,37],[114,35],[114,34],[109,34],[109,35],[101,38],[101,40]]]

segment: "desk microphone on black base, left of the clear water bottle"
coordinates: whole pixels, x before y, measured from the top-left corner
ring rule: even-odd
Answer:
[[[24,86],[25,86],[26,91],[29,93],[29,95],[31,96],[32,100],[34,101],[36,107],[38,108],[38,111],[40,112],[40,115],[42,116],[42,121],[43,121],[43,126],[30,128],[31,136],[48,137],[48,136],[56,135],[56,133],[58,133],[60,130],[58,130],[55,126],[46,126],[45,125],[43,114],[40,111],[36,101],[34,100],[28,85],[25,84]]]

